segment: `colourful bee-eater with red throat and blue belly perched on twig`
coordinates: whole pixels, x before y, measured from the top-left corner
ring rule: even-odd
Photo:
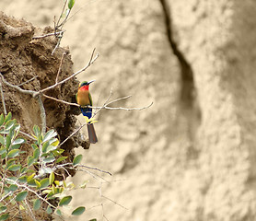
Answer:
[[[83,81],[79,84],[78,91],[76,93],[76,102],[79,104],[80,110],[82,111],[84,116],[87,116],[88,119],[91,118],[92,115],[92,109],[84,106],[92,106],[92,99],[91,95],[89,93],[89,84],[94,82],[94,80],[91,81]],[[87,123],[87,129],[88,129],[88,137],[89,142],[91,144],[95,144],[98,142],[97,135],[94,130],[93,123]]]

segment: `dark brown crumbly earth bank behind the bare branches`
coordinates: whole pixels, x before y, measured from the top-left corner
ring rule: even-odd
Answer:
[[[51,28],[35,28],[25,20],[17,20],[0,14],[0,73],[12,85],[20,85],[23,89],[40,90],[52,86],[60,67],[62,54],[65,52],[59,80],[70,76],[72,61],[68,50],[59,49],[51,55],[56,45],[54,38],[35,39],[35,35],[51,32]],[[31,80],[32,79],[32,80]],[[31,80],[31,81],[29,81]],[[28,83],[26,83],[29,81]],[[24,84],[25,83],[25,84]],[[55,87],[47,95],[69,100],[74,99],[78,82],[72,79],[60,87]],[[31,134],[33,125],[41,126],[41,112],[37,99],[22,94],[17,89],[3,84],[6,111],[11,111],[13,117],[21,124],[23,132]],[[76,125],[76,109],[68,105],[42,99],[45,111],[47,130],[54,128],[60,140],[71,134]],[[1,103],[1,110],[3,106]],[[78,136],[77,136],[78,137]],[[66,152],[70,151],[72,159],[73,148],[77,147],[79,139],[70,139],[64,146]],[[77,143],[78,142],[78,143]]]

